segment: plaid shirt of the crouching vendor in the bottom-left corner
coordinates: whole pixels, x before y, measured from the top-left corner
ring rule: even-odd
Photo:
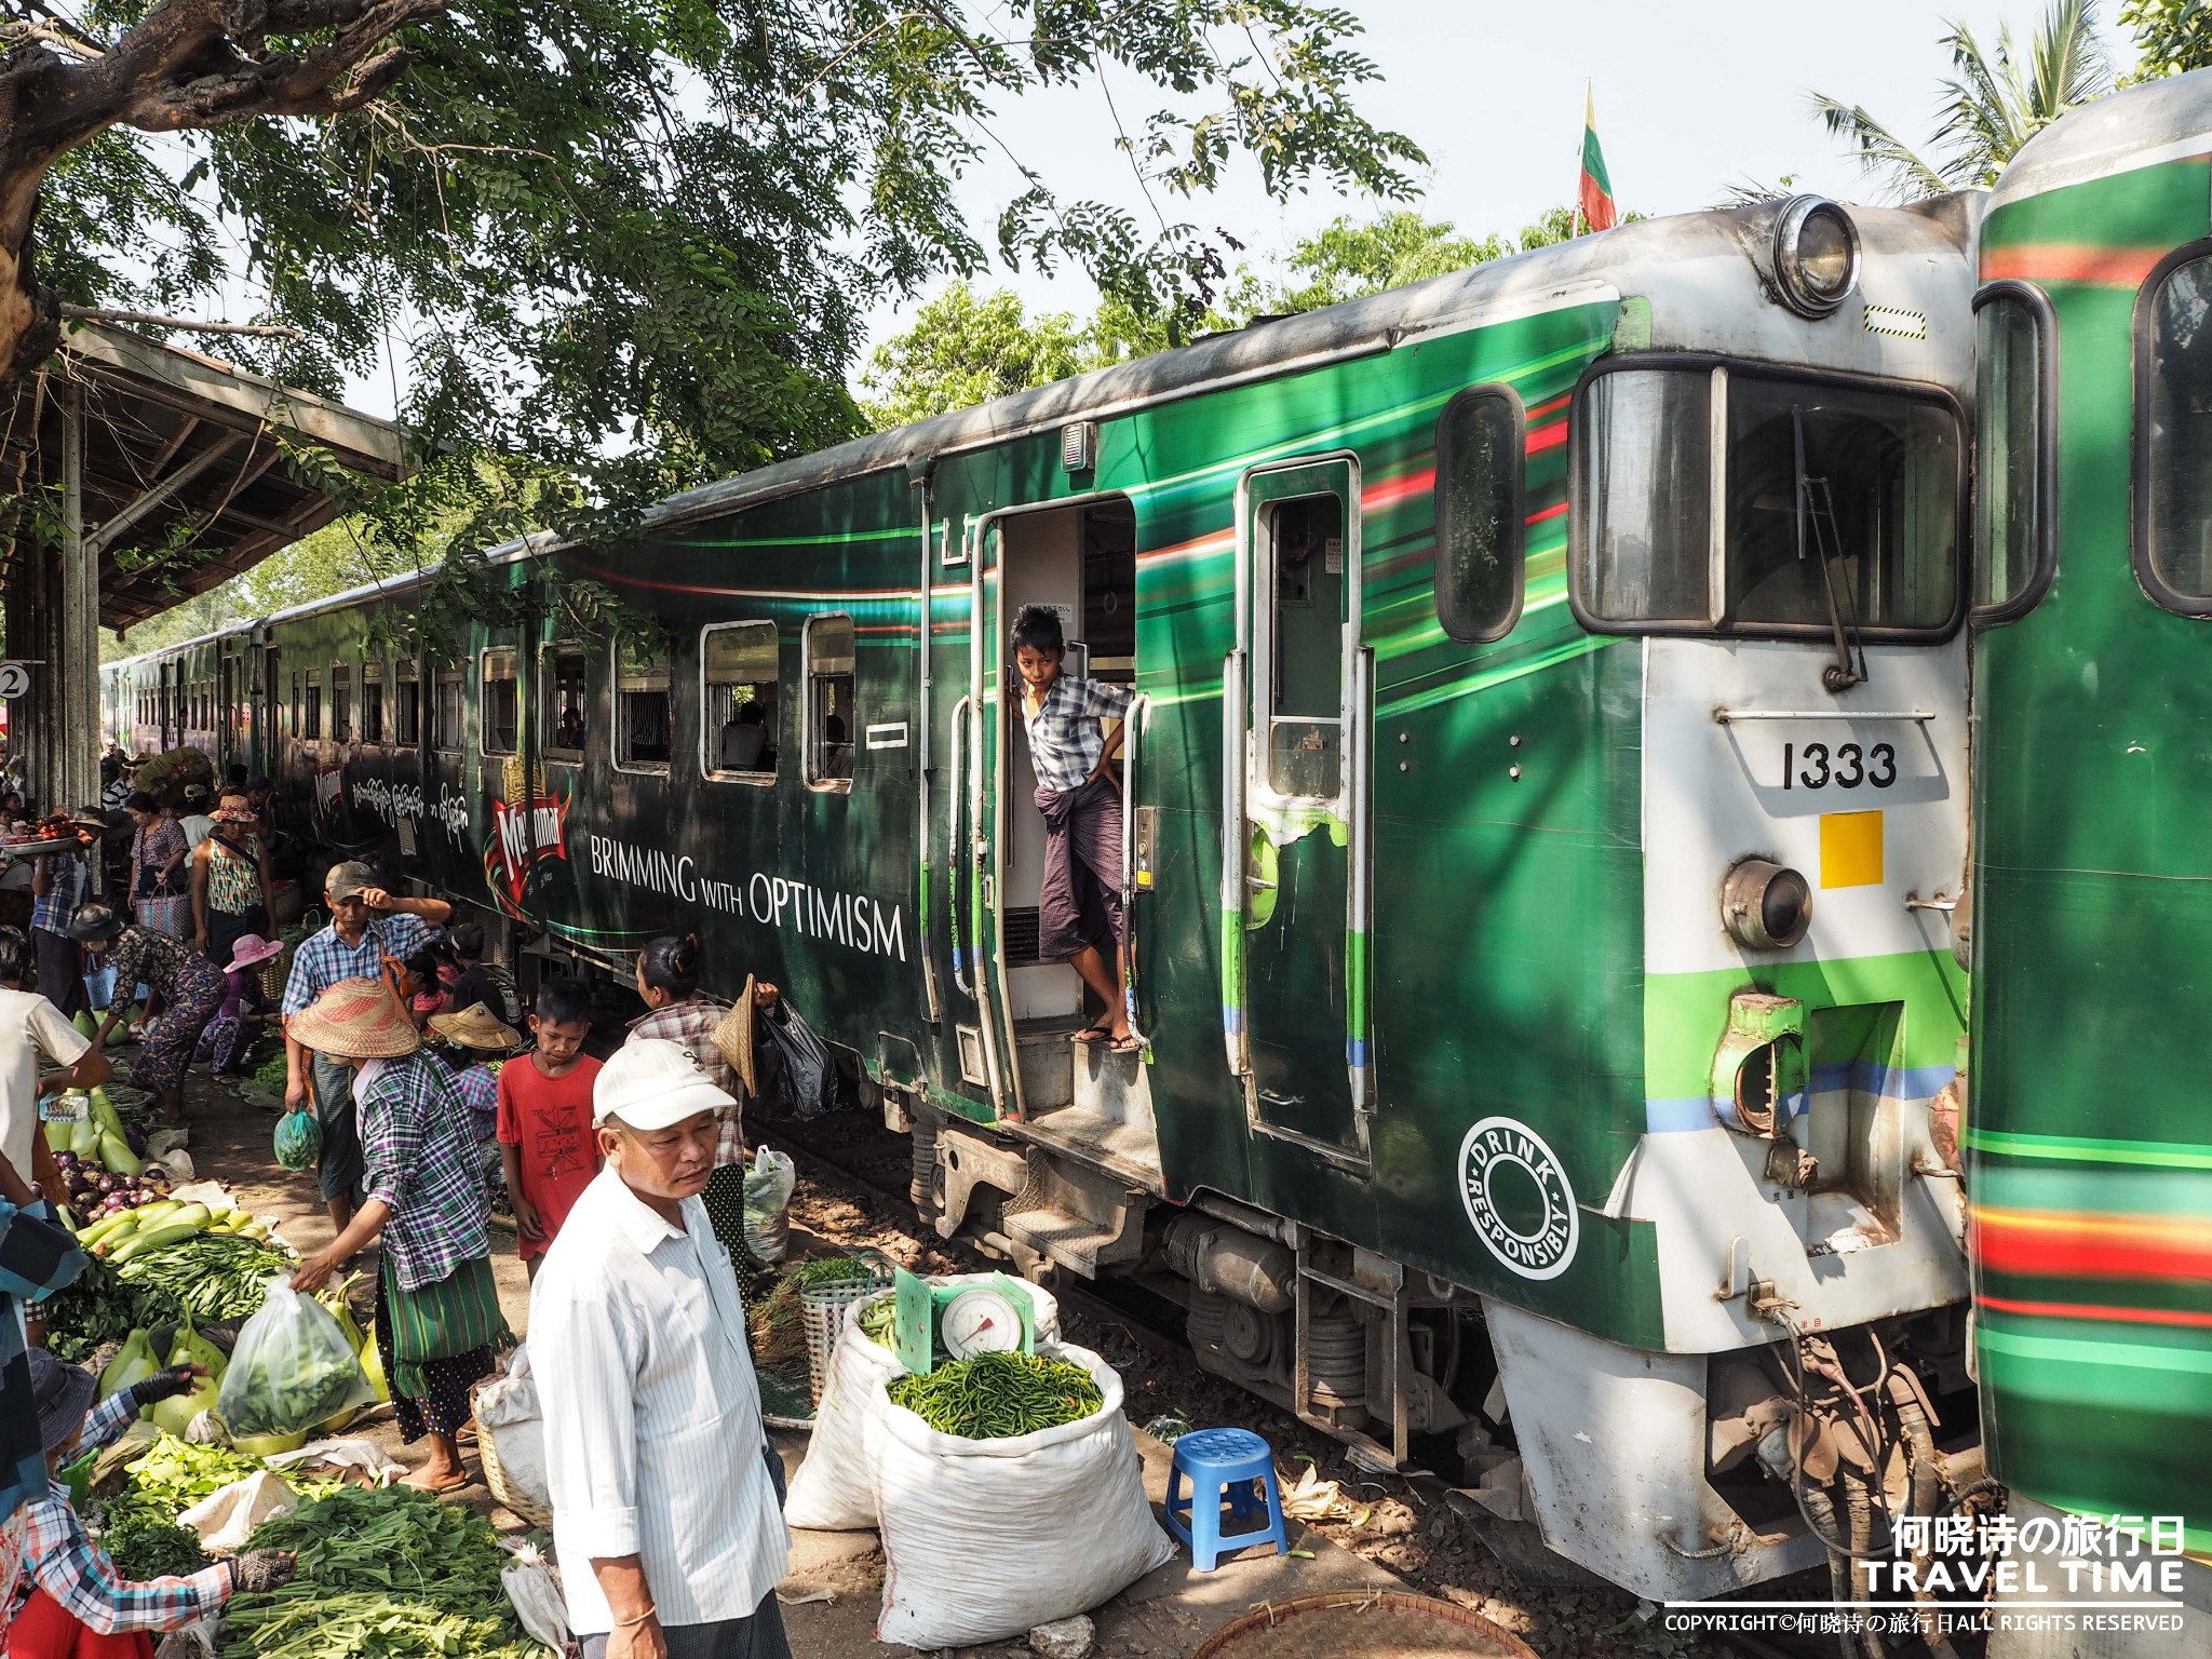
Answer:
[[[137,1420],[137,1411],[135,1389],[95,1405],[84,1420],[82,1451],[117,1440]],[[9,1546],[18,1548],[13,1562],[7,1559]],[[24,1506],[22,1526],[0,1537],[0,1584],[4,1582],[15,1582],[7,1597],[9,1621],[31,1599],[31,1590],[44,1590],[100,1637],[119,1630],[175,1630],[230,1597],[228,1566],[131,1584],[115,1571],[108,1553],[84,1535],[69,1491],[51,1478],[44,1480],[42,1495]]]

